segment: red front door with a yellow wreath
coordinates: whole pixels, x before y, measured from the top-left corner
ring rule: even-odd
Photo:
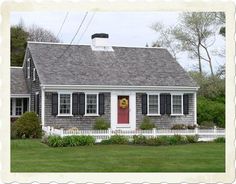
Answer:
[[[129,123],[129,96],[118,96],[118,124]]]

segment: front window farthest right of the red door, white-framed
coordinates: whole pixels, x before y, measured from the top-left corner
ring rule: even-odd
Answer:
[[[171,104],[171,114],[183,115],[183,94],[173,94]]]

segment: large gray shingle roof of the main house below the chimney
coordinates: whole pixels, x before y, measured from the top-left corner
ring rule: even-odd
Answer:
[[[163,48],[112,47],[114,52],[103,52],[89,45],[32,42],[28,48],[42,84],[197,86]]]

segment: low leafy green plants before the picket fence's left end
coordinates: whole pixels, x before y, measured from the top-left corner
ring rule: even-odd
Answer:
[[[43,141],[42,141],[43,142]],[[51,147],[74,147],[74,146],[92,146],[95,144],[95,138],[92,136],[49,136],[45,141]]]

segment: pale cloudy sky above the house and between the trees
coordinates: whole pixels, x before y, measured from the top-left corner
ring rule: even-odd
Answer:
[[[153,31],[150,26],[156,22],[161,22],[165,26],[177,25],[180,13],[88,12],[73,44],[90,45],[92,34],[108,33],[109,43],[113,46],[145,47],[146,44],[150,46],[159,37],[159,34]],[[25,27],[34,24],[57,35],[66,14],[67,12],[13,12],[10,17],[10,24],[16,25],[23,20]],[[71,42],[85,14],[86,12],[68,12],[66,21],[58,35],[61,42]],[[217,36],[215,40],[211,50],[225,48],[225,40],[222,36]],[[212,60],[215,71],[219,65],[225,63],[225,58],[218,56],[213,56]],[[197,61],[189,58],[186,53],[179,54],[178,62],[188,71],[195,69],[197,64]],[[203,62],[203,69],[209,72],[209,66],[206,62]]]

